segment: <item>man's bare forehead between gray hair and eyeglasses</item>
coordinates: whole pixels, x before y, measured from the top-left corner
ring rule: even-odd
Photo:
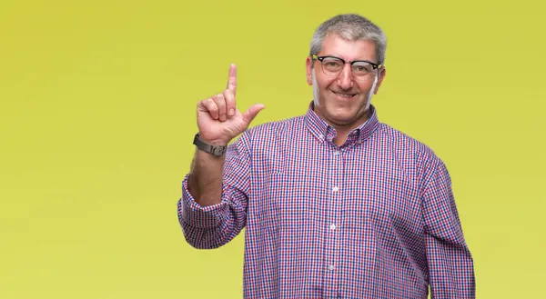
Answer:
[[[348,61],[375,61],[375,44],[371,40],[349,41],[339,35],[329,34],[324,38],[319,55],[334,55]]]

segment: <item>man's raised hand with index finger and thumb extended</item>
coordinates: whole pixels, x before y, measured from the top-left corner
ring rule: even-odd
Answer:
[[[256,104],[241,114],[235,101],[236,94],[237,67],[229,65],[226,90],[197,104],[197,127],[201,140],[212,145],[227,145],[231,139],[245,132],[256,115],[265,108],[265,105]]]

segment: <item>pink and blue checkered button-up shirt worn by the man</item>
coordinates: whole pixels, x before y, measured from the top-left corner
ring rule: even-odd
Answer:
[[[445,164],[379,123],[344,145],[308,113],[257,125],[229,145],[222,201],[187,190],[178,220],[212,249],[245,229],[245,298],[474,298],[473,261]]]

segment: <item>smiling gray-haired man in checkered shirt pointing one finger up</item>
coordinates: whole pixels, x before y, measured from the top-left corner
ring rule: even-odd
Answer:
[[[338,15],[313,35],[306,115],[248,129],[264,105],[239,112],[235,65],[198,103],[178,217],[196,248],[246,227],[246,298],[474,298],[445,164],[370,105],[385,48],[377,25]]]

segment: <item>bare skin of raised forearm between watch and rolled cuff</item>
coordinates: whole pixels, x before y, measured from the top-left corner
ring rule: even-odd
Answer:
[[[217,157],[196,149],[187,187],[197,204],[208,206],[221,202],[225,161],[225,155]]]

